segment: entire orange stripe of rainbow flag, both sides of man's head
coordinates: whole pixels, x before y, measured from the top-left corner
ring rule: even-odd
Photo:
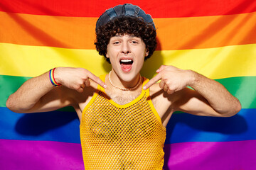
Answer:
[[[0,12],[0,42],[95,49],[97,18]],[[184,50],[256,43],[256,12],[230,16],[156,18],[157,50]]]

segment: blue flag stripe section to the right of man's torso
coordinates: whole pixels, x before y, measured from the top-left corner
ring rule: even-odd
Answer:
[[[255,120],[255,108],[242,109],[230,118],[177,113],[166,127],[165,144],[256,140]]]

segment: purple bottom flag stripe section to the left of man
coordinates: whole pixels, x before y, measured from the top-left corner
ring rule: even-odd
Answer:
[[[0,140],[0,169],[84,169],[80,144]]]

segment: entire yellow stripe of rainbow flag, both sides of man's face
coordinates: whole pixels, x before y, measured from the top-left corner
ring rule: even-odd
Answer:
[[[4,75],[35,77],[53,67],[84,67],[97,76],[110,71],[110,64],[96,50],[0,43],[0,54],[0,74]],[[212,79],[256,76],[256,44],[156,51],[142,75],[151,78],[161,64],[193,69]]]

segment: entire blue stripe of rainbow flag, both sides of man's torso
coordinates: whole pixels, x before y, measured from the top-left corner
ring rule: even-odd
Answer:
[[[166,144],[256,140],[255,120],[255,108],[242,109],[230,118],[177,113],[166,127]],[[80,143],[79,125],[74,112],[21,114],[0,108],[0,139]]]

